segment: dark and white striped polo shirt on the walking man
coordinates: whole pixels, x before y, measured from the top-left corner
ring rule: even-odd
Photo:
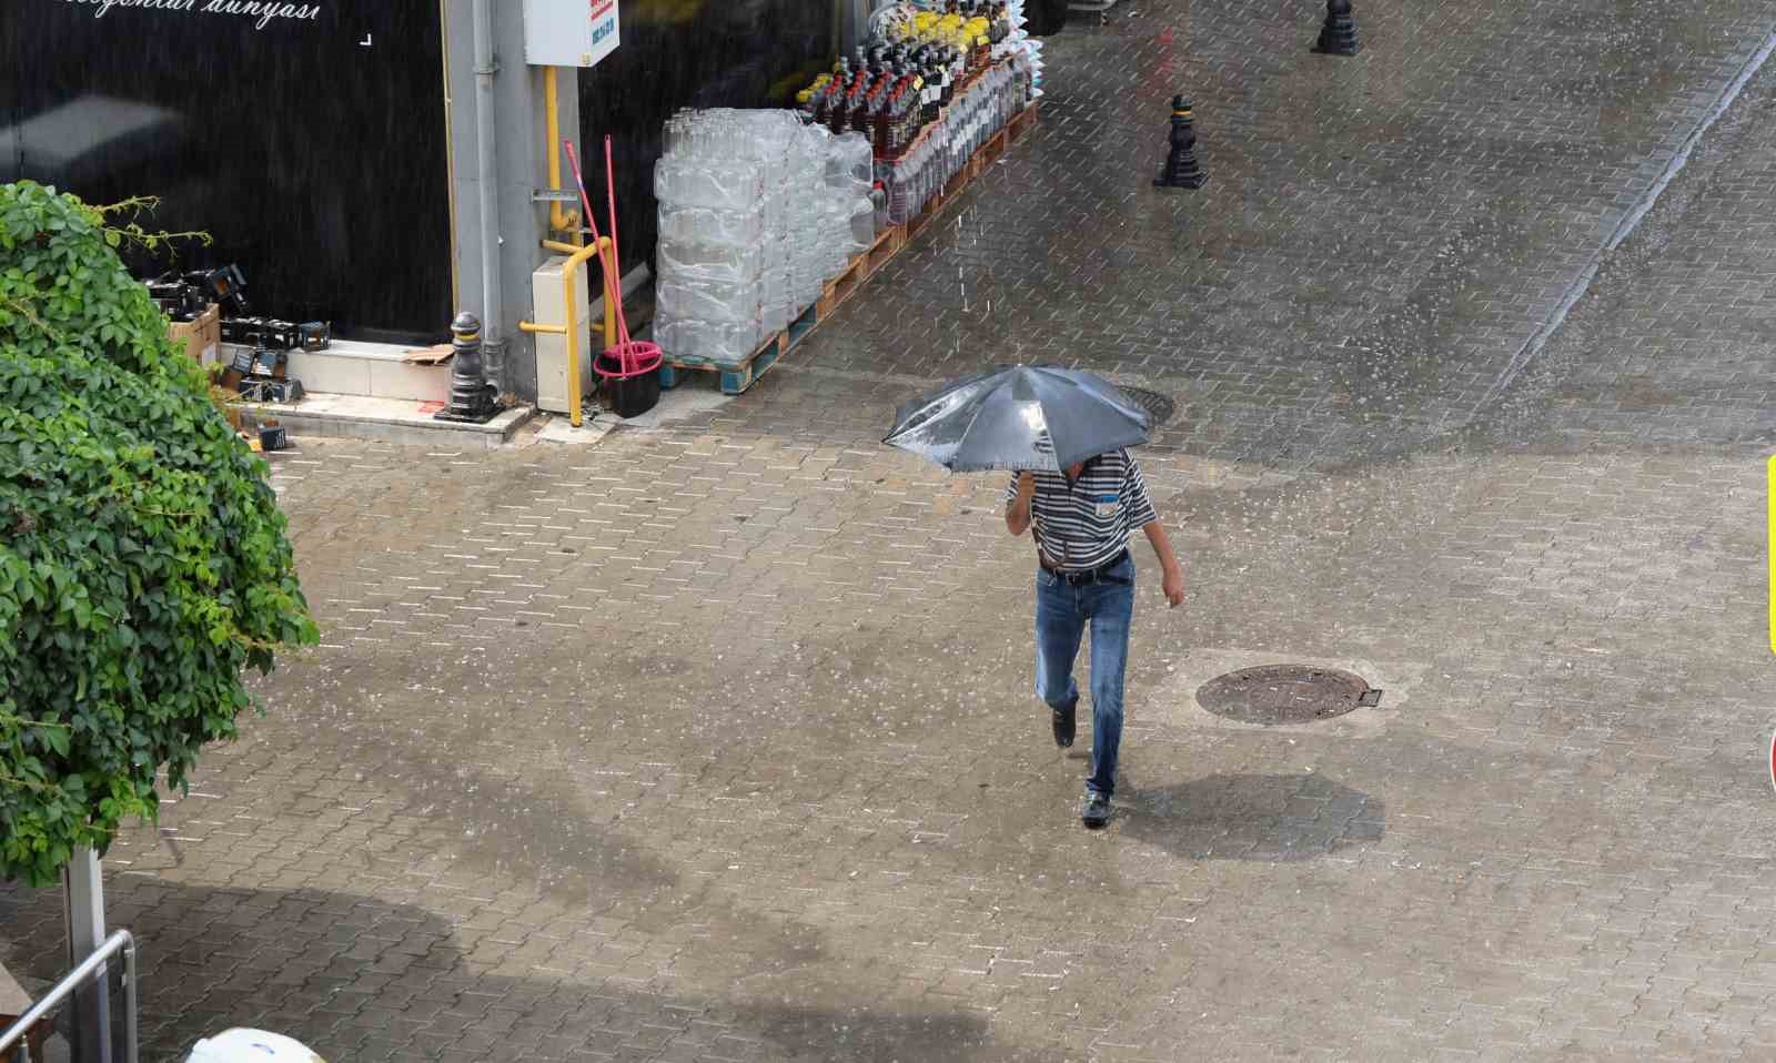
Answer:
[[[1005,488],[1005,506],[1018,499],[1018,474]],[[1128,532],[1158,520],[1140,465],[1128,451],[1110,451],[1085,463],[1080,479],[1035,474],[1030,531],[1043,563],[1064,571],[1089,571],[1128,547]]]

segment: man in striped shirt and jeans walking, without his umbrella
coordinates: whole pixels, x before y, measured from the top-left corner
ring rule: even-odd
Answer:
[[[1135,559],[1128,532],[1140,529],[1160,559],[1162,587],[1176,609],[1185,571],[1147,499],[1140,467],[1126,449],[1069,465],[1064,472],[1019,472],[1005,490],[1005,529],[1034,529],[1035,692],[1053,713],[1055,744],[1073,745],[1080,687],[1073,662],[1085,625],[1092,628],[1092,761],[1085,779],[1087,827],[1110,822],[1117,747],[1122,744],[1122,673],[1135,612]]]

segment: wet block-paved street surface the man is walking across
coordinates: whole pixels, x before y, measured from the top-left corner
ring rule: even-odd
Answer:
[[[1039,133],[712,413],[275,456],[325,646],[107,859],[147,1058],[1776,1054],[1776,64],[1636,222],[1776,18],[1375,2],[1337,60],[1312,9],[1074,23]],[[1101,834],[1000,479],[877,445],[1046,358],[1176,401]],[[1382,705],[1195,703],[1282,662]],[[0,893],[16,972],[59,903]]]

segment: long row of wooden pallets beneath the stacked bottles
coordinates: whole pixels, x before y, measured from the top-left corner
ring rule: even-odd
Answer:
[[[925,204],[925,209],[916,218],[911,218],[906,225],[890,225],[888,229],[883,229],[868,248],[852,256],[852,259],[845,263],[845,270],[838,277],[826,282],[821,289],[821,298],[790,321],[789,328],[767,337],[757,350],[753,350],[753,353],[737,362],[668,355],[666,360],[661,362],[661,387],[668,390],[675,389],[684,383],[691,373],[721,374],[721,394],[728,396],[737,396],[758,383],[758,378],[764,376],[771,366],[776,366],[778,358],[789,353],[789,348],[801,343],[847,298],[856,295],[877,270],[886,266],[893,256],[900,254],[900,250],[925,229],[925,225],[934,222],[938,215],[943,213],[943,208],[961,195],[977,174],[984,172],[986,167],[996,161],[1005,149],[1028,133],[1034,124],[1035,103],[1023,108],[1021,114],[1012,117],[1011,124],[982,144],[963,165],[963,169],[950,177],[950,181],[943,186],[943,192],[934,195],[931,202]]]

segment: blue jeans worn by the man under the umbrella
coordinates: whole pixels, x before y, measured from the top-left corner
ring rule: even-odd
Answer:
[[[1135,559],[1124,557],[1096,584],[1073,586],[1035,571],[1035,692],[1050,708],[1078,705],[1073,660],[1087,621],[1092,626],[1092,774],[1085,788],[1115,793],[1122,745],[1122,673],[1135,616]]]

